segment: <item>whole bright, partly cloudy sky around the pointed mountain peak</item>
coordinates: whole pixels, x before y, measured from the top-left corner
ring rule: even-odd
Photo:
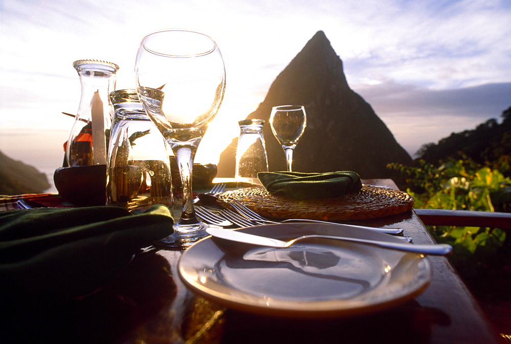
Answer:
[[[120,66],[134,88],[141,39],[164,28],[213,37],[227,76],[196,162],[217,163],[237,122],[322,30],[350,87],[411,156],[511,106],[510,0],[1,0],[0,151],[53,174],[80,101],[73,61]]]

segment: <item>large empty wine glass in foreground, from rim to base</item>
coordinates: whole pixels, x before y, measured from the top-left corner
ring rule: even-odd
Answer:
[[[208,225],[197,218],[193,207],[192,167],[224,96],[222,54],[211,37],[199,32],[160,30],[142,39],[135,75],[142,105],[172,148],[181,176],[181,218],[164,242],[186,247],[207,236]]]

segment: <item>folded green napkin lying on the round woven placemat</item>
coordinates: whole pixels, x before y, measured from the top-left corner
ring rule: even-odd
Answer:
[[[362,189],[359,175],[350,171],[259,172],[258,177],[269,193],[298,200],[339,197]]]

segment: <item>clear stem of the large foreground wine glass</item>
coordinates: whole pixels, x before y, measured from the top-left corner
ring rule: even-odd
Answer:
[[[178,221],[178,224],[197,223],[199,220],[195,216],[192,194],[193,160],[196,148],[193,146],[178,146],[175,147],[173,151],[176,156],[177,167],[179,168],[182,185],[183,207],[181,219]]]

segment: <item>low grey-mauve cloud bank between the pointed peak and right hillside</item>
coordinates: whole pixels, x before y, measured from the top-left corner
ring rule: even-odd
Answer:
[[[431,90],[385,81],[352,87],[385,122],[410,155],[426,143],[453,132],[474,129],[489,119],[501,120],[511,106],[511,82]]]

